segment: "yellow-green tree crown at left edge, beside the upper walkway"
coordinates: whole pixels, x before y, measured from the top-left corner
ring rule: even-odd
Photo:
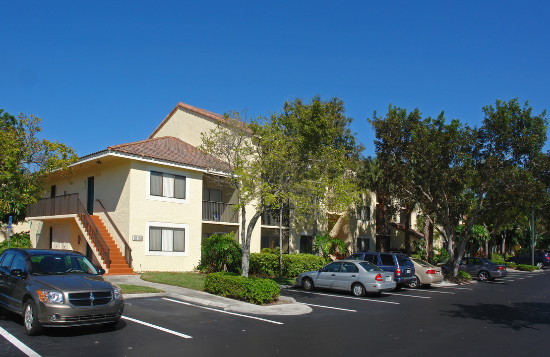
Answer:
[[[46,176],[72,174],[78,160],[74,150],[60,142],[39,139],[42,119],[20,113],[17,118],[0,109],[0,220],[23,221],[26,205],[46,190]]]

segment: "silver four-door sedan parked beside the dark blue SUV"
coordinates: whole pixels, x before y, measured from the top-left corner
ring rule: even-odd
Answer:
[[[383,271],[371,262],[337,260],[320,270],[300,273],[296,283],[306,291],[313,288],[351,291],[354,296],[379,294],[395,288],[392,272]]]

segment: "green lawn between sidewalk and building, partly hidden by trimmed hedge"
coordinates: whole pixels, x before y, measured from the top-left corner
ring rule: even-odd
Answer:
[[[141,274],[141,279],[148,282],[175,285],[177,287],[204,291],[205,279],[207,274],[203,273],[174,273],[174,272],[145,272]],[[296,278],[272,278],[279,285],[296,284]]]

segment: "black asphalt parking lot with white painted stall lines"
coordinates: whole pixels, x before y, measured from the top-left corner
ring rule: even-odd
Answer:
[[[367,354],[547,355],[550,269],[510,271],[494,282],[401,289],[355,298],[331,290],[282,291],[312,312],[237,314],[174,298],[127,300],[124,319],[25,334],[21,317],[0,320],[2,356],[260,356]]]

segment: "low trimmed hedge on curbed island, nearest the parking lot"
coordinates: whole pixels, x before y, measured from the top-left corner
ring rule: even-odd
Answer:
[[[263,304],[279,297],[279,287],[271,279],[242,277],[235,273],[211,273],[205,279],[205,291],[252,304]]]

